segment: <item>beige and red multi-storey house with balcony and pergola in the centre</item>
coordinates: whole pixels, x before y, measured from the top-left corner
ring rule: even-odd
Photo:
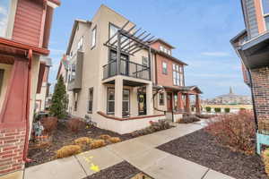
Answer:
[[[75,20],[66,50],[69,114],[127,133],[166,119],[167,110],[171,115],[182,115],[184,107],[189,111],[191,94],[199,105],[201,91],[182,80],[186,64],[171,55],[168,43],[153,39],[105,5],[91,21]]]

